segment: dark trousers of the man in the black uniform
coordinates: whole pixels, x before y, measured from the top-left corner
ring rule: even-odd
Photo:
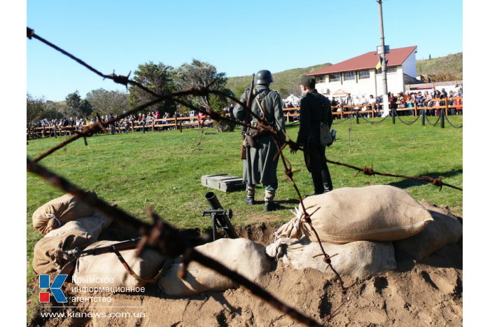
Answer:
[[[304,163],[311,174],[315,194],[333,190],[332,178],[325,158],[325,146],[309,142],[304,151]]]

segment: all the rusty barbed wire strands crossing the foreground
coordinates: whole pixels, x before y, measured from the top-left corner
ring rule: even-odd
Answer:
[[[149,225],[148,223],[144,223],[143,221],[139,221],[137,218],[134,218],[133,216],[126,214],[124,211],[121,211],[120,209],[117,209],[115,207],[111,207],[109,204],[106,204],[106,202],[98,199],[97,197],[89,197],[80,188],[77,188],[76,186],[71,184],[66,179],[63,179],[61,176],[58,176],[55,173],[49,172],[48,169],[45,169],[44,167],[42,167],[41,165],[38,165],[38,163],[37,163],[39,160],[41,160],[41,159],[45,158],[46,156],[54,153],[59,148],[63,148],[67,144],[69,144],[69,143],[71,143],[71,142],[73,142],[76,139],[79,139],[81,137],[84,138],[85,144],[87,144],[86,137],[90,137],[97,132],[105,131],[106,127],[109,124],[114,123],[117,120],[120,120],[122,118],[125,118],[126,116],[129,116],[132,113],[137,113],[138,111],[146,109],[147,107],[152,106],[153,104],[157,104],[159,102],[164,102],[164,101],[176,102],[178,104],[181,104],[183,106],[188,107],[189,109],[193,109],[195,111],[207,114],[213,120],[218,120],[218,121],[219,120],[228,120],[231,123],[235,123],[237,125],[242,125],[242,126],[245,126],[248,128],[256,129],[259,132],[260,131],[266,131],[271,135],[272,139],[274,140],[274,144],[276,145],[276,148],[278,149],[278,155],[280,156],[281,162],[283,163],[284,174],[286,174],[287,179],[290,181],[290,183],[292,183],[293,188],[295,189],[295,192],[297,193],[297,197],[299,199],[300,206],[303,209],[303,215],[304,215],[304,216],[302,216],[301,221],[304,221],[304,223],[308,223],[309,226],[311,227],[311,230],[314,231],[314,234],[316,235],[318,243],[320,244],[322,252],[323,252],[323,261],[328,265],[328,267],[330,267],[332,269],[332,271],[335,273],[335,275],[339,281],[339,284],[342,288],[342,302],[339,306],[341,307],[342,305],[344,305],[344,303],[347,300],[347,298],[346,298],[347,288],[344,286],[344,283],[343,283],[340,275],[337,273],[335,268],[332,266],[331,260],[330,260],[331,257],[328,256],[328,254],[325,253],[325,251],[323,250],[323,246],[321,245],[321,239],[318,237],[318,233],[316,232],[316,230],[314,229],[314,227],[311,223],[311,215],[312,214],[308,214],[306,209],[304,208],[303,199],[302,199],[302,196],[300,194],[300,190],[299,190],[299,188],[297,188],[297,185],[293,179],[293,174],[295,173],[295,171],[293,171],[293,169],[290,165],[290,162],[288,161],[288,159],[283,154],[283,149],[286,148],[286,146],[290,146],[290,148],[295,148],[295,149],[300,150],[300,151],[305,151],[305,150],[300,144],[297,144],[295,141],[290,139],[290,137],[288,137],[288,135],[286,134],[285,130],[281,130],[281,132],[284,133],[284,135],[286,136],[286,139],[281,139],[281,137],[279,137],[279,130],[276,130],[276,128],[274,127],[274,125],[272,125],[272,123],[267,122],[267,120],[265,120],[265,118],[258,117],[255,113],[253,113],[253,111],[251,111],[250,107],[247,107],[246,104],[241,102],[239,99],[237,99],[234,96],[228,95],[225,92],[221,92],[219,90],[212,90],[211,86],[213,85],[214,81],[211,82],[209,85],[204,86],[204,87],[190,88],[188,90],[182,90],[179,92],[172,92],[172,93],[165,94],[165,95],[159,95],[159,94],[157,94],[151,90],[148,90],[148,88],[144,87],[144,85],[140,85],[139,83],[136,83],[136,82],[133,83],[133,81],[129,80],[129,75],[128,76],[115,76],[114,74],[104,75],[104,74],[100,73],[99,71],[97,71],[97,69],[90,67],[90,65],[86,64],[85,62],[78,59],[77,57],[67,53],[62,48],[59,48],[59,47],[55,46],[54,44],[50,43],[49,41],[46,41],[45,39],[41,38],[40,36],[37,36],[36,34],[34,34],[34,30],[29,29],[29,27],[27,27],[27,37],[29,39],[31,39],[31,38],[38,39],[39,41],[42,41],[43,43],[47,44],[48,46],[55,48],[59,52],[63,53],[64,55],[71,57],[71,59],[75,60],[79,64],[82,64],[84,67],[86,67],[87,69],[90,69],[90,71],[93,71],[95,74],[97,74],[103,78],[110,78],[115,83],[121,83],[121,84],[126,85],[126,86],[127,86],[127,84],[134,85],[135,87],[141,88],[142,90],[145,90],[146,92],[150,93],[151,95],[153,95],[155,97],[155,99],[153,99],[152,101],[149,101],[146,104],[142,104],[141,106],[137,106],[136,108],[131,109],[130,111],[127,111],[126,113],[121,114],[120,116],[112,118],[111,120],[106,120],[105,122],[101,123],[100,118],[99,118],[99,121],[97,123],[94,123],[88,127],[83,127],[82,132],[78,132],[75,136],[73,136],[69,139],[66,139],[65,141],[58,144],[57,146],[54,146],[53,148],[50,148],[47,152],[39,155],[34,160],[29,160],[29,158],[27,158],[27,170],[29,172],[33,172],[35,174],[38,174],[39,176],[43,177],[46,181],[48,181],[48,183],[51,183],[52,185],[57,186],[58,188],[61,188],[62,190],[65,190],[68,193],[72,193],[81,201],[91,205],[92,207],[94,207],[96,209],[99,209],[100,211],[104,212],[104,214],[111,216],[116,221],[125,225],[127,228],[132,228],[133,230],[137,230],[141,235],[144,236],[143,237],[144,241],[142,241],[144,243],[142,243],[141,246],[153,246],[156,249],[159,249],[161,251],[161,253],[167,254],[169,256],[176,257],[176,256],[183,255],[184,262],[186,263],[184,265],[184,267],[186,267],[186,265],[188,265],[190,260],[195,260],[195,261],[201,263],[202,265],[205,265],[211,269],[216,270],[220,274],[225,274],[226,276],[230,277],[231,279],[233,279],[237,283],[245,286],[253,294],[259,296],[260,298],[262,298],[262,300],[269,302],[270,305],[280,309],[281,312],[288,314],[293,319],[296,319],[297,321],[300,321],[302,323],[307,323],[307,324],[312,325],[312,326],[319,326],[318,323],[316,321],[314,321],[314,319],[308,318],[307,316],[304,316],[303,314],[301,314],[297,310],[293,309],[292,307],[288,307],[287,305],[283,304],[282,302],[280,302],[279,300],[274,298],[272,295],[270,295],[269,293],[264,291],[262,288],[260,288],[260,286],[253,284],[251,281],[248,281],[248,279],[241,276],[240,274],[237,274],[237,272],[233,272],[232,270],[229,270],[228,268],[224,267],[223,265],[216,262],[215,260],[212,260],[211,258],[207,258],[207,257],[203,256],[201,253],[195,251],[195,249],[193,249],[193,244],[190,244],[189,239],[182,239],[182,242],[180,242],[180,239],[182,237],[181,232],[178,229],[173,228],[171,225],[168,225],[167,223],[162,221],[162,219],[160,217],[158,217],[157,214],[153,213],[153,211],[151,211],[151,209],[149,209],[149,211],[151,211],[151,217],[154,220],[153,225]],[[251,124],[242,123],[235,118],[228,118],[226,116],[221,116],[219,113],[216,113],[216,112],[211,111],[211,110],[197,108],[193,104],[189,104],[189,103],[183,101],[182,99],[179,99],[179,97],[186,97],[188,95],[195,96],[195,97],[207,97],[211,94],[226,97],[227,99],[232,100],[232,102],[241,104],[241,106],[244,106],[244,108],[246,108],[246,110],[251,113],[251,116],[253,116],[255,119],[257,119],[258,125],[257,126],[251,126]],[[342,120],[342,122],[349,119],[349,118],[351,118],[351,117],[344,118],[344,120]],[[339,123],[342,123],[342,122],[339,122]],[[344,167],[349,167],[351,169],[356,169],[356,170],[358,170],[358,173],[363,172],[363,174],[370,174],[370,175],[378,174],[378,175],[384,175],[384,176],[411,178],[411,179],[417,179],[420,181],[428,181],[428,182],[432,183],[433,185],[440,186],[440,189],[444,185],[444,186],[449,186],[452,188],[462,190],[461,188],[457,188],[457,187],[451,186],[447,183],[443,183],[442,177],[440,177],[439,179],[433,179],[433,178],[428,177],[428,176],[405,176],[405,175],[396,175],[396,174],[388,174],[388,173],[379,173],[379,172],[374,172],[372,167],[370,169],[358,168],[358,167],[354,167],[352,165],[344,164],[342,162],[335,162],[332,160],[327,160],[325,157],[323,157],[323,158],[326,162],[330,162],[330,163],[335,164],[335,165],[342,165]],[[140,246],[140,248],[141,248],[141,246]],[[328,321],[328,319],[331,319],[332,316],[335,316],[335,314],[337,314],[339,312],[339,310],[337,308],[336,310],[333,310],[332,312],[333,312],[333,314],[330,314],[327,317],[327,319],[326,319],[327,321]]]

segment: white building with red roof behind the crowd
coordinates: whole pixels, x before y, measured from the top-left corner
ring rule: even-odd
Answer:
[[[405,91],[405,85],[421,83],[416,80],[416,49],[416,46],[391,49],[386,55],[388,92],[397,94]],[[379,55],[372,51],[307,75],[315,76],[316,90],[330,99],[344,97],[346,93],[368,99],[370,95],[383,94],[381,69],[376,69],[378,62]]]

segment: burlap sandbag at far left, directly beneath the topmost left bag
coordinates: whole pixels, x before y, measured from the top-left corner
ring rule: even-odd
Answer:
[[[48,232],[34,246],[32,268],[38,274],[58,271],[67,263],[63,252],[97,242],[104,223],[106,218],[102,216],[82,217]]]

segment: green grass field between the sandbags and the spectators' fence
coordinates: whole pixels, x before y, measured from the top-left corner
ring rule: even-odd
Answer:
[[[462,116],[451,116],[450,119],[454,125],[461,125],[463,120]],[[406,117],[405,120],[409,122],[413,118]],[[463,185],[462,128],[448,124],[445,129],[438,125],[421,126],[420,120],[413,125],[403,125],[397,120],[393,125],[391,118],[379,124],[360,119],[359,125],[355,120],[346,120],[333,128],[339,139],[328,148],[330,160],[357,167],[372,166],[377,172],[442,176],[446,183]],[[293,139],[297,130],[298,125],[287,127]],[[27,156],[34,158],[64,139],[29,141]],[[145,210],[151,205],[155,212],[179,228],[210,228],[211,218],[201,216],[202,210],[209,207],[204,194],[210,190],[201,185],[201,176],[219,173],[241,176],[239,129],[218,134],[202,134],[201,130],[106,134],[90,137],[87,142],[88,146],[85,146],[83,139],[78,139],[40,163],[146,221],[149,218]],[[287,157],[293,169],[301,169],[294,178],[302,195],[311,194],[313,186],[302,153],[290,155],[288,152]],[[460,190],[444,187],[440,191],[436,186],[408,179],[356,176],[355,170],[338,165],[329,165],[329,168],[334,188],[390,184],[407,190],[416,200],[456,207],[456,212],[462,212],[463,193]],[[290,183],[281,182],[284,178],[281,165],[278,178],[276,200],[292,209],[297,206],[297,197]],[[235,224],[258,221],[279,224],[292,218],[288,209],[265,215],[262,205],[249,206],[242,201],[244,192],[215,192],[223,207],[233,210],[232,222]],[[32,214],[42,204],[62,194],[34,174],[27,174],[27,260],[31,260],[34,244],[41,238],[32,228]],[[262,200],[262,188],[258,188],[257,195],[258,200]],[[27,278],[28,281],[32,278],[31,270]]]

